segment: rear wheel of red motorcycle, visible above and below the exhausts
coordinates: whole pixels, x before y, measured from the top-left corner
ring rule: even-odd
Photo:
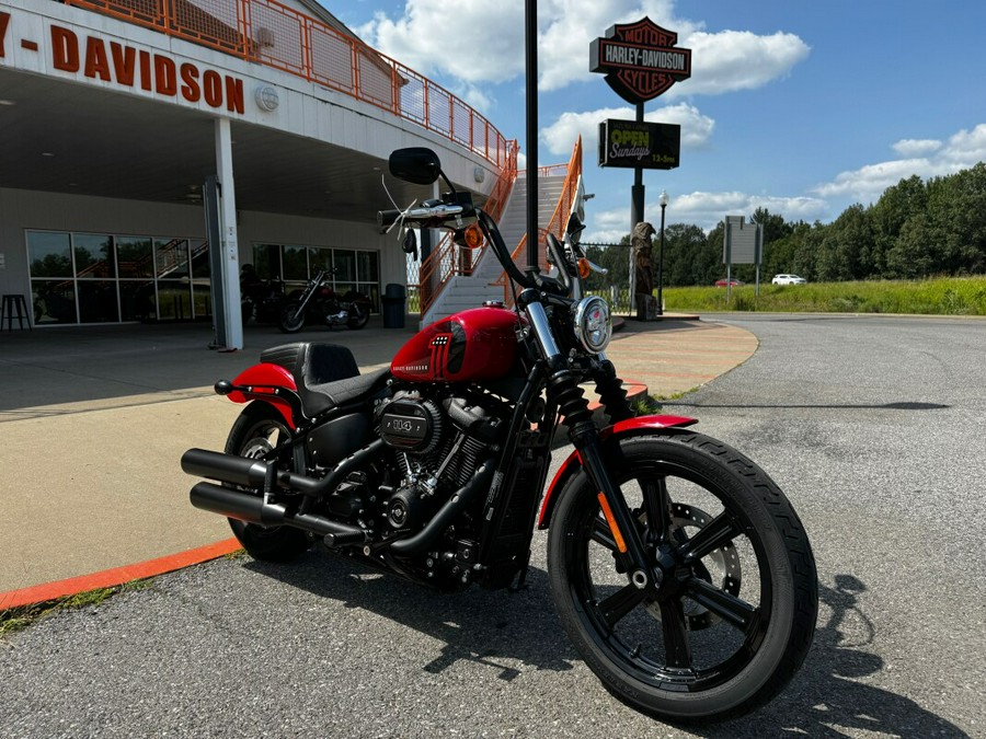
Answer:
[[[268,403],[254,402],[243,408],[226,441],[227,454],[240,457],[267,457],[279,443],[289,439],[290,429],[284,417]],[[280,462],[298,469],[287,451]],[[302,465],[303,466],[303,465]],[[286,526],[262,526],[246,523],[234,518],[227,519],[233,534],[243,549],[255,559],[289,562],[300,556],[311,545],[309,536],[299,529]]]

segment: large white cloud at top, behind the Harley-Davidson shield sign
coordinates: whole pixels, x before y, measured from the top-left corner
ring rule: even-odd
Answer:
[[[538,7],[538,71],[542,91],[599,80],[588,71],[589,43],[615,23],[649,16],[692,49],[692,76],[667,95],[719,94],[758,88],[788,74],[809,54],[798,36],[746,31],[706,32],[675,16],[675,0],[542,0]],[[356,28],[370,46],[422,74],[498,84],[524,76],[524,3],[406,0],[402,14],[378,12]]]

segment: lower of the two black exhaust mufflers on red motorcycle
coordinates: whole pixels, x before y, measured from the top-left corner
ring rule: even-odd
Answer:
[[[284,506],[264,503],[263,498],[256,495],[213,483],[198,483],[192,488],[188,498],[196,508],[246,523],[290,526],[311,531],[323,536],[329,546],[362,544],[366,541],[366,532],[358,527],[346,526],[312,513],[291,513]]]

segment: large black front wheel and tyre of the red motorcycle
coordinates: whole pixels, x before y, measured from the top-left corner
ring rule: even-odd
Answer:
[[[815,564],[796,513],[765,472],[702,435],[624,439],[607,454],[663,577],[630,582],[599,493],[580,472],[548,540],[569,637],[616,697],[650,715],[699,723],[763,705],[801,666],[815,628]]]

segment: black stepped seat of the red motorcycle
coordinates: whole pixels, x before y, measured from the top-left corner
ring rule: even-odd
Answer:
[[[390,377],[386,367],[360,374],[353,353],[337,344],[283,344],[266,349],[261,354],[261,361],[284,367],[291,373],[301,397],[301,409],[309,418],[372,392]]]

